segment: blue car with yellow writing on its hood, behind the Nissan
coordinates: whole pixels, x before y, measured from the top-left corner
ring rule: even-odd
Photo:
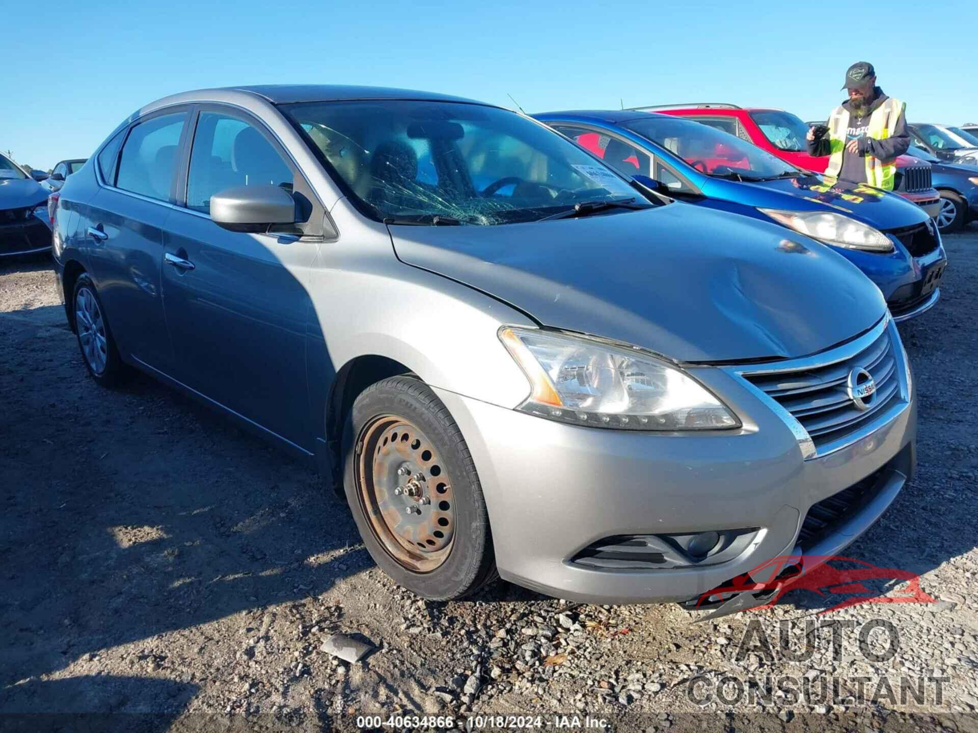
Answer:
[[[896,321],[940,298],[947,264],[940,233],[898,195],[801,170],[681,117],[627,109],[533,116],[616,170],[640,182],[654,179],[648,183],[674,198],[776,221],[832,246],[876,283]]]

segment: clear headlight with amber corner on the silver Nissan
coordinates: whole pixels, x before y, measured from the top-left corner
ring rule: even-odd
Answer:
[[[500,328],[530,380],[517,410],[619,430],[717,430],[740,421],[676,367],[624,347],[548,331]]]

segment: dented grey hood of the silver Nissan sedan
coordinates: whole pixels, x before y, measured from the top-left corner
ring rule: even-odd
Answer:
[[[813,354],[886,311],[878,288],[828,247],[680,202],[546,223],[389,229],[409,265],[544,325],[678,361]]]

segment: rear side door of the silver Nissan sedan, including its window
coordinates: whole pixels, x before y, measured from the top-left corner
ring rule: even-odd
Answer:
[[[187,108],[150,114],[100,154],[99,193],[79,214],[84,251],[124,356],[168,373],[173,352],[163,315],[162,227],[173,200]],[[109,154],[114,153],[114,154]]]

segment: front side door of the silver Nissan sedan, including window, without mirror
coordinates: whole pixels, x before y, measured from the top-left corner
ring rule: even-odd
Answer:
[[[200,107],[196,118],[182,205],[163,237],[163,298],[176,377],[311,452],[305,326],[312,303],[306,287],[322,241],[311,213],[314,196],[255,118],[219,106]],[[247,234],[211,220],[213,194],[269,184],[293,193],[305,224]],[[317,215],[322,222],[323,212]]]

